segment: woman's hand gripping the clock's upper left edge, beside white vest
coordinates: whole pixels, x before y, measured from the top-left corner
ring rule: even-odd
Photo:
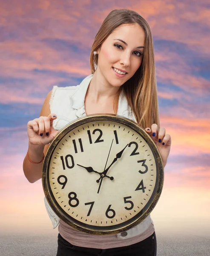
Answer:
[[[53,128],[53,120],[57,116],[53,113],[49,116],[40,116],[27,124],[27,133],[29,136],[29,143],[32,145],[47,145],[52,142],[55,135],[58,133]]]

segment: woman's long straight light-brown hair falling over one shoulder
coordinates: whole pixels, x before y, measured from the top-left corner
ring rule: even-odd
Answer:
[[[147,21],[141,15],[127,9],[116,9],[107,15],[92,44],[90,52],[91,73],[95,73],[95,67],[98,64],[98,55],[94,55],[93,52],[101,48],[106,38],[118,26],[134,23],[138,23],[145,32],[144,55],[138,70],[118,90],[118,95],[114,102],[114,111],[117,113],[119,95],[123,90],[138,125],[145,129],[155,123],[159,129],[158,93],[152,33]]]

